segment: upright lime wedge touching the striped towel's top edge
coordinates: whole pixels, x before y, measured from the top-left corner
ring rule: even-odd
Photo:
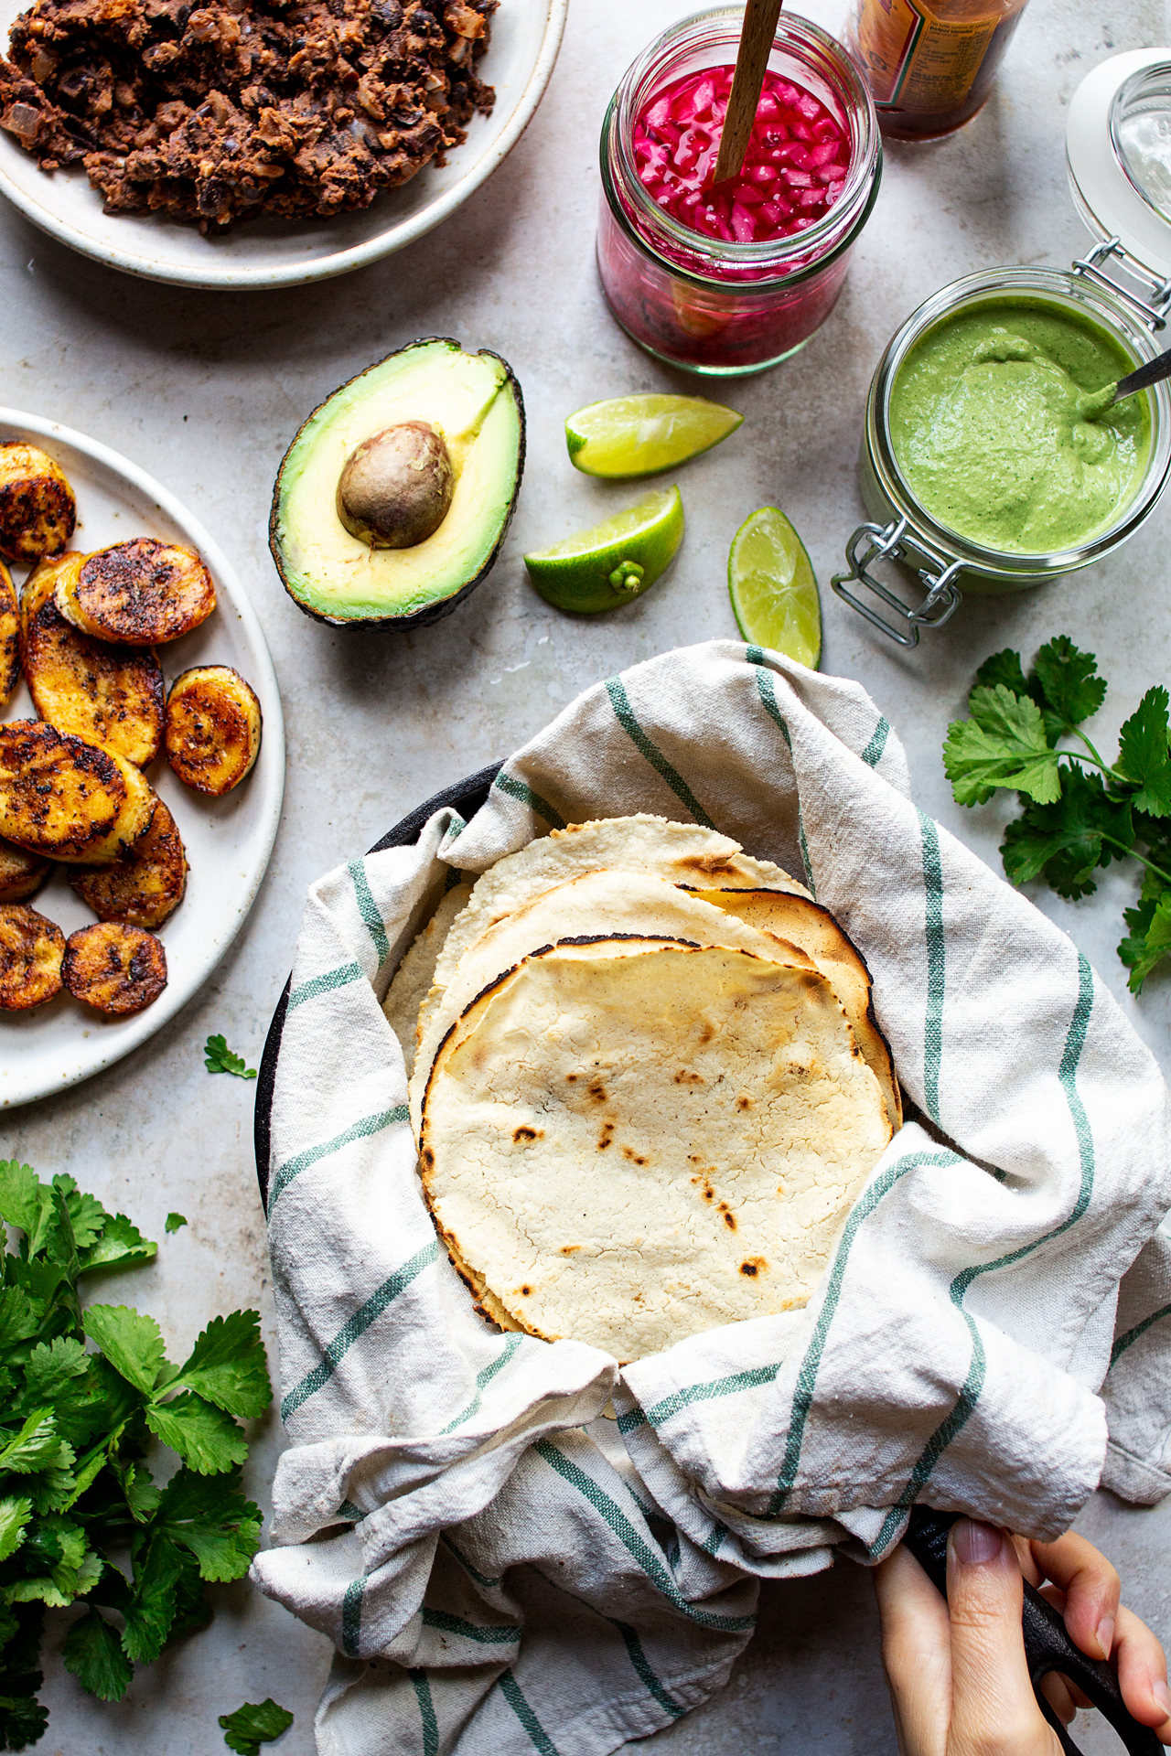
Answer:
[[[822,599],[806,546],[776,506],[751,513],[732,537],[729,597],[736,625],[816,671],[822,657]]]

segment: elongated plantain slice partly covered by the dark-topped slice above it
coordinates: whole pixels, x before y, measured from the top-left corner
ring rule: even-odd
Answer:
[[[25,627],[25,680],[58,732],[146,767],[163,739],[163,673],[146,646],[111,646],[74,629],[46,595]]]

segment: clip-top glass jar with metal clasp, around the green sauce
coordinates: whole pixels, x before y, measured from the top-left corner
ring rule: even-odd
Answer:
[[[878,362],[866,404],[862,434],[860,488],[873,523],[858,525],[846,544],[848,572],[834,576],[834,590],[874,627],[901,646],[915,646],[920,629],[939,627],[952,616],[964,590],[976,595],[1024,592],[1062,572],[1087,567],[1125,543],[1150,516],[1171,472],[1171,390],[1167,383],[1139,392],[1146,397],[1150,418],[1150,448],[1146,467],[1131,499],[1117,509],[1113,522],[1076,548],[1046,555],[1001,553],[983,548],[939,523],[918,502],[899,469],[890,437],[890,395],[899,371],[915,344],[946,318],[973,311],[980,304],[1002,304],[1004,299],[1025,299],[1031,304],[1055,307],[1092,328],[1104,330],[1122,353],[1141,365],[1153,360],[1160,348],[1152,332],[1164,327],[1162,306],[1146,304],[1103,272],[1113,246],[1103,244],[1073,269],[988,269],[952,281],[913,311],[902,328],[887,344]],[[1150,291],[1171,299],[1171,288],[1150,286]],[[927,597],[915,608],[908,604],[869,569],[878,560],[899,562],[927,588]],[[864,587],[871,601],[858,597]],[[888,620],[873,599],[881,601],[895,620]]]

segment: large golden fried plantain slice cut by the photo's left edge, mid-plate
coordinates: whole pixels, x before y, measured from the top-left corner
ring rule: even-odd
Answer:
[[[0,725],[0,834],[44,859],[105,864],[144,832],[154,794],[112,750],[42,720]]]

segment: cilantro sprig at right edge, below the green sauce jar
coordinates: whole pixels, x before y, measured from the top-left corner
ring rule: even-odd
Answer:
[[[985,804],[997,788],[1018,794],[1022,815],[1004,831],[1001,859],[1017,885],[1043,878],[1059,896],[1097,889],[1111,860],[1143,867],[1118,957],[1129,987],[1171,955],[1171,727],[1169,697],[1148,688],[1106,762],[1081,729],[1106,701],[1094,653],[1059,634],[1025,676],[1020,653],[992,653],[976,671],[969,720],[948,727],[943,767],[959,804]],[[1076,739],[1080,748],[1069,748]]]

